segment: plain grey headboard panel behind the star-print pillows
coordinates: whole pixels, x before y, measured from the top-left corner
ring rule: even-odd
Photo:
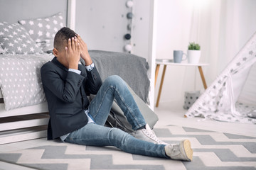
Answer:
[[[41,18],[63,13],[67,25],[68,0],[0,0],[0,22],[16,23],[21,19]]]

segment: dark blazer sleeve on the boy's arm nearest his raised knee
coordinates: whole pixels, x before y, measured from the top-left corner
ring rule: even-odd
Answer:
[[[100,78],[99,72],[97,72],[97,68],[95,67],[90,72],[87,71],[87,80],[85,83],[85,89],[90,94],[97,94],[99,91],[100,86],[102,85],[102,79]]]

